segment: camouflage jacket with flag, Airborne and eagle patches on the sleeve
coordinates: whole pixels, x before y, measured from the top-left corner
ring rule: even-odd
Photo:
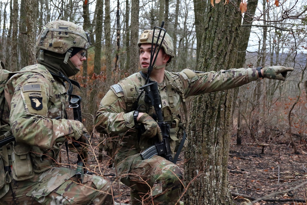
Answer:
[[[8,126],[1,132],[11,129],[15,147],[18,145],[14,152],[26,152],[28,148],[33,171],[42,172],[52,167],[60,145],[67,138],[81,136],[83,124],[65,119],[68,96],[60,79],[53,78],[41,64],[27,66],[21,71],[27,70],[29,72],[15,74],[6,83],[1,124]]]

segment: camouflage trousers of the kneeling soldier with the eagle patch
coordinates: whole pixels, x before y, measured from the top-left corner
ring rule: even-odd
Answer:
[[[30,180],[12,179],[10,190],[0,204],[114,204],[111,183],[103,177],[84,175],[83,184],[76,182],[76,171],[51,168]]]

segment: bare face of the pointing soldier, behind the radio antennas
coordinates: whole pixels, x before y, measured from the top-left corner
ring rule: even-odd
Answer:
[[[153,45],[154,48],[154,45]],[[142,68],[148,68],[150,63],[150,54],[151,54],[151,44],[141,44],[140,46],[140,65]],[[156,54],[153,56],[155,58]],[[169,56],[166,55],[163,49],[160,49],[155,65],[165,65],[166,62],[169,60]]]

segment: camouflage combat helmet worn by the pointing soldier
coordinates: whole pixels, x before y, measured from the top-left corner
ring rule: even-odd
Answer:
[[[159,35],[160,30],[159,29],[155,29],[155,34],[154,34],[154,39],[153,39],[153,43],[156,44],[157,43],[157,37]],[[161,40],[162,40],[162,36],[164,34],[164,31],[161,31],[161,36],[158,40],[158,45],[162,46],[163,50],[165,51],[165,53],[167,55],[169,55],[169,61],[167,61],[166,66],[169,65],[169,62],[172,60],[173,57],[175,57],[174,55],[174,46],[173,46],[173,40],[172,38],[169,36],[169,34],[165,33],[165,37],[163,39],[163,42],[161,44]],[[141,44],[144,43],[152,43],[152,38],[153,38],[153,30],[144,30],[144,32],[142,33],[142,35],[138,38],[138,47],[141,46]]]

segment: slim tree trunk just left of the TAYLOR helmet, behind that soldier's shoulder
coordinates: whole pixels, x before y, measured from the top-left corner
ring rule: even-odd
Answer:
[[[29,51],[29,65],[36,64],[36,25],[38,0],[25,0],[25,10],[27,14],[27,44]]]

